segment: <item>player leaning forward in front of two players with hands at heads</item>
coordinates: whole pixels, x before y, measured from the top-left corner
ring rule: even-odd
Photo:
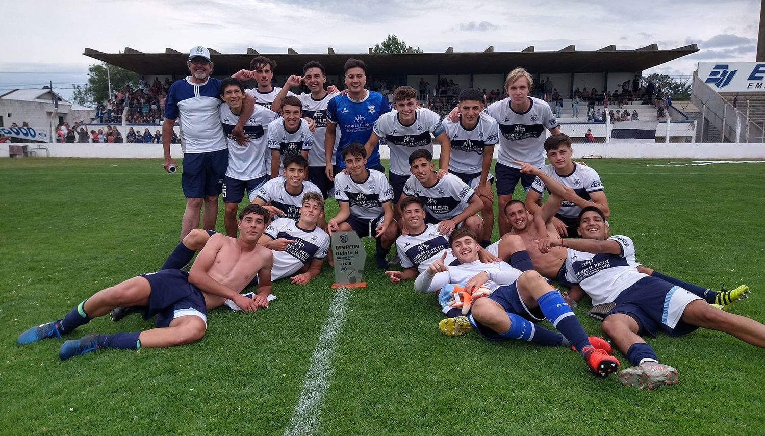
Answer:
[[[308,159],[308,151],[314,147],[314,134],[302,116],[303,104],[298,97],[286,96],[282,100],[282,119],[275,119],[269,124],[271,178],[278,177],[284,171],[282,160],[286,156],[301,155]]]

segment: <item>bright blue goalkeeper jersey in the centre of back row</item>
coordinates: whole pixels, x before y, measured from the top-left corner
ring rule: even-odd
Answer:
[[[343,161],[343,148],[351,142],[361,145],[369,141],[372,129],[379,117],[390,112],[391,106],[381,93],[366,91],[366,97],[360,101],[351,99],[350,96],[336,96],[327,105],[327,122],[340,127],[340,143],[337,145],[337,158],[334,164],[345,168]],[[366,157],[366,168],[373,168],[380,164],[379,144],[375,146],[371,156]]]

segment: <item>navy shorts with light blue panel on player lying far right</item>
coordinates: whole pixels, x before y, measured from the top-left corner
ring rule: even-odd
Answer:
[[[643,277],[621,291],[614,300],[617,307],[606,318],[610,314],[627,314],[640,327],[638,334],[656,336],[659,330],[664,330],[672,336],[682,336],[698,328],[686,324],[681,319],[682,312],[691,301],[701,299],[661,278]]]

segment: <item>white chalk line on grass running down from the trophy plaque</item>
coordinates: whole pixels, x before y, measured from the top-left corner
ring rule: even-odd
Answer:
[[[332,369],[332,355],[334,354],[337,336],[343,329],[345,312],[350,296],[349,288],[339,288],[335,291],[332,304],[330,304],[327,320],[321,327],[319,343],[314,349],[311,366],[305,374],[303,390],[300,392],[298,405],[292,412],[289,427],[285,430],[285,436],[311,435],[318,423],[318,415],[321,412],[324,392],[329,387],[329,379],[334,372]]]

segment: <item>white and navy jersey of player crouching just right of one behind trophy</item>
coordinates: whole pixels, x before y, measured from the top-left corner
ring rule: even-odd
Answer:
[[[404,194],[418,197],[425,209],[439,221],[451,220],[462,213],[473,198],[475,190],[454,174],[446,174],[431,187],[423,186],[415,176],[404,184]]]

